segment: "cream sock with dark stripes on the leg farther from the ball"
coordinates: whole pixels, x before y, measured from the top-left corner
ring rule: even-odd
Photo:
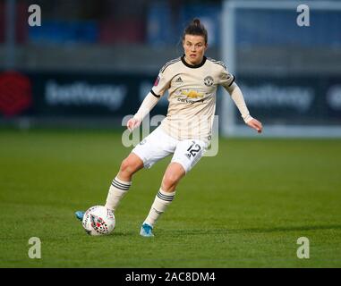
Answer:
[[[166,207],[170,205],[175,197],[175,191],[168,193],[162,189],[158,190],[158,195],[154,199],[154,203],[150,208],[149,214],[144,221],[148,223],[151,227],[157,222],[158,217],[166,211]]]

